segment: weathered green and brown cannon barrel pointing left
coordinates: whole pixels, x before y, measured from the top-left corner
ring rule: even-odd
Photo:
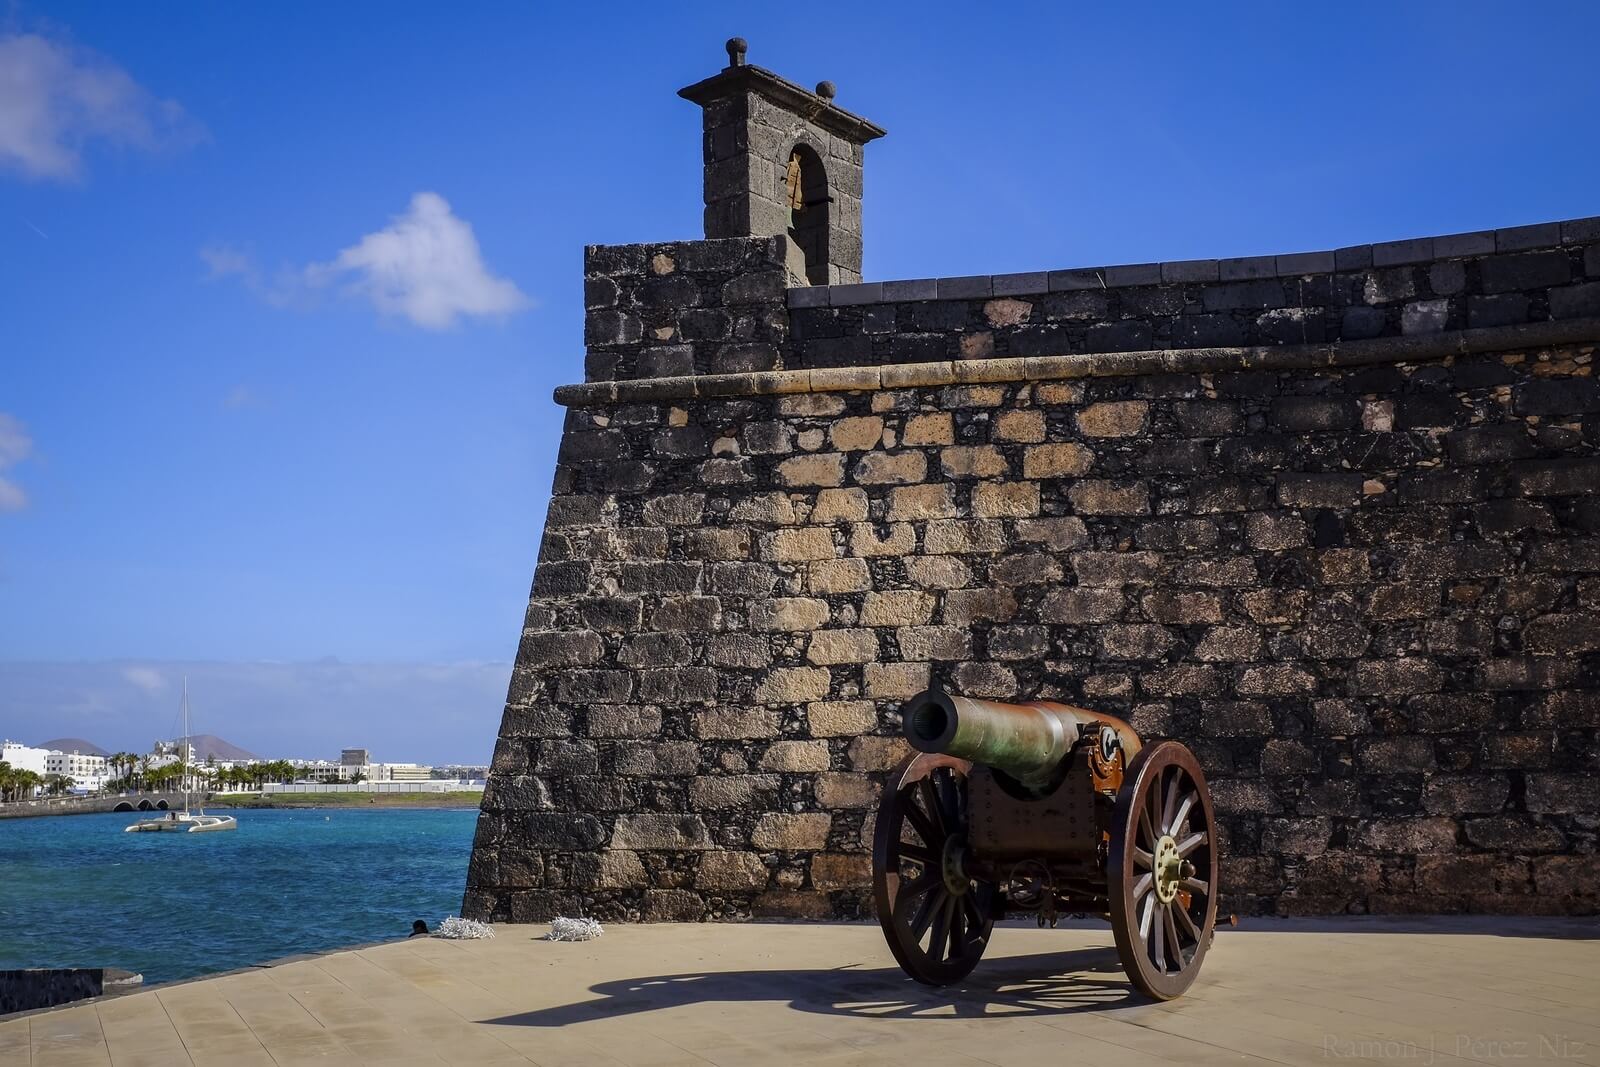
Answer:
[[[1054,777],[1091,723],[1112,728],[1128,760],[1141,747],[1139,734],[1122,720],[1053,701],[1000,704],[931,688],[901,709],[901,720],[914,749],[982,763],[1029,787]]]

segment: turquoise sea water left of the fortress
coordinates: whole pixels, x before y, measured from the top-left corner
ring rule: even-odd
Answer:
[[[461,909],[477,811],[235,811],[232,833],[134,814],[0,821],[0,969],[168,982],[365,941]]]

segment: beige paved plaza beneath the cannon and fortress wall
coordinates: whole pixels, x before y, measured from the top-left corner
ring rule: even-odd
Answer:
[[[995,933],[954,992],[875,925],[501,926],[0,1021],[6,1067],[1600,1062],[1592,920],[1253,920],[1182,1000],[1110,929]]]

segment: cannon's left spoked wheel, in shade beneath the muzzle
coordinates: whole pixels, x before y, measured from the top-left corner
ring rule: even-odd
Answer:
[[[965,870],[968,771],[966,760],[915,755],[890,774],[878,805],[878,923],[901,969],[925,985],[966,977],[994,928],[994,886]]]

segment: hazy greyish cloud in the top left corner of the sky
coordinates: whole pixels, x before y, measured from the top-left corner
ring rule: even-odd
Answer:
[[[90,141],[182,147],[200,126],[104,56],[35,34],[0,35],[0,168],[74,179]]]

